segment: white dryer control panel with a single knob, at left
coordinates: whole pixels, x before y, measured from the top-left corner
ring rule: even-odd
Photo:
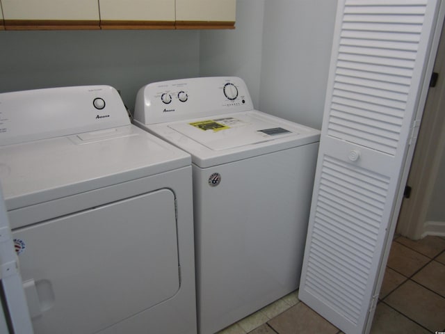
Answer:
[[[73,86],[0,94],[0,146],[129,125],[111,86]]]

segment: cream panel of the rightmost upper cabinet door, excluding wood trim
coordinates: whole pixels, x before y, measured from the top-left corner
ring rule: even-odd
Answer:
[[[234,22],[236,0],[176,0],[177,21]]]

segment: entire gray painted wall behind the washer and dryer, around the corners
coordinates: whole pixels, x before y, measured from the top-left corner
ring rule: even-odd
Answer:
[[[320,128],[336,3],[238,0],[234,30],[0,31],[0,93],[109,84],[133,110],[149,82],[235,75],[257,109]]]

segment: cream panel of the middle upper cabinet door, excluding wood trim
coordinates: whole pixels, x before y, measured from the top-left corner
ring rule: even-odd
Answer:
[[[99,0],[101,19],[175,21],[175,0]]]

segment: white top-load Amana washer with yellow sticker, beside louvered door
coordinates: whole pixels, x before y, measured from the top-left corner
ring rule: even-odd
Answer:
[[[297,289],[318,130],[253,110],[237,77],[149,84],[134,122],[192,155],[199,333]]]

